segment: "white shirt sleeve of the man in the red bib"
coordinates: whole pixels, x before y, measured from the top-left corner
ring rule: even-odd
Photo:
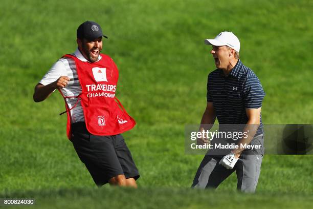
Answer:
[[[42,85],[46,86],[54,81],[56,81],[61,76],[68,76],[66,73],[65,65],[59,59],[55,64],[50,68],[50,70],[42,77],[39,81]]]

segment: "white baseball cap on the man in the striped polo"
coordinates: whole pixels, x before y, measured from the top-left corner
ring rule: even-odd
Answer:
[[[232,32],[224,31],[219,33],[214,39],[205,39],[205,44],[213,46],[229,46],[239,52],[240,42]]]

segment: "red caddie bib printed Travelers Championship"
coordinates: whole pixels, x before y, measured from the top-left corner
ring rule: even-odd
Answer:
[[[76,97],[77,102],[81,103],[88,132],[100,136],[117,135],[132,129],[136,122],[127,114],[115,96],[119,78],[116,65],[109,56],[100,55],[101,59],[97,62],[81,61],[71,54],[66,54],[63,57],[70,57],[75,60],[82,90],[81,94]],[[63,98],[69,97],[63,96]],[[65,107],[68,114],[66,133],[70,139],[71,109],[67,106],[66,101]]]

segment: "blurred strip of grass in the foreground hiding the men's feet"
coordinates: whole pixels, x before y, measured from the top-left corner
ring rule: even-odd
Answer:
[[[7,198],[34,198],[28,208],[310,208],[313,198],[299,194],[241,194],[188,189],[59,189],[8,193]],[[136,197],[131,198],[130,197]],[[290,198],[294,201],[290,202]],[[71,201],[68,201],[68,200]],[[19,208],[17,206],[16,208]],[[8,208],[14,208],[12,206]]]

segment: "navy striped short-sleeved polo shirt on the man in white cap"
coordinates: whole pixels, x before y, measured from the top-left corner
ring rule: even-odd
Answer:
[[[228,76],[216,69],[208,76],[208,102],[213,102],[219,124],[245,124],[248,122],[245,109],[262,106],[265,96],[259,78],[240,59]],[[256,135],[263,133],[262,116]]]

